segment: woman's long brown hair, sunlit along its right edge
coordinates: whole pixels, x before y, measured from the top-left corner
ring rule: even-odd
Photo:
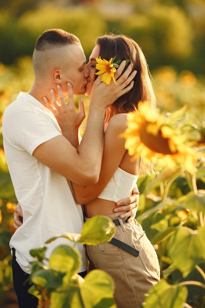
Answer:
[[[100,47],[99,56],[101,59],[109,61],[115,56],[115,61],[129,59],[129,63],[133,64],[133,70],[137,70],[132,90],[119,97],[112,105],[111,109],[114,109],[114,113],[137,110],[139,101],[149,101],[150,108],[155,112],[156,99],[152,78],[141,47],[130,37],[113,33],[98,37],[96,44]]]

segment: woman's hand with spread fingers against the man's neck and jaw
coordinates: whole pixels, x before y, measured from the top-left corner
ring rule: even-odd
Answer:
[[[79,100],[79,112],[76,111],[73,99],[73,89],[70,83],[68,87],[68,103],[65,102],[62,88],[57,85],[58,90],[58,101],[57,95],[54,89],[51,89],[52,102],[50,103],[47,97],[43,97],[45,106],[53,113],[57,122],[59,123],[62,135],[70,141],[70,143],[77,147],[78,142],[78,130],[86,117],[83,98]]]

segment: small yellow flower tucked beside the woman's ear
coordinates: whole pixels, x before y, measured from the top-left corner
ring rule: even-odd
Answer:
[[[114,63],[113,63],[113,58],[111,58],[109,61],[107,61],[105,59],[102,60],[100,57],[96,58],[95,60],[97,62],[95,67],[96,67],[97,70],[99,70],[99,72],[97,72],[95,74],[96,75],[102,74],[101,82],[104,82],[107,85],[110,85],[111,79],[113,79],[113,81],[117,85],[117,82],[116,82],[115,76],[114,76],[114,74],[116,73],[116,68],[115,68]]]

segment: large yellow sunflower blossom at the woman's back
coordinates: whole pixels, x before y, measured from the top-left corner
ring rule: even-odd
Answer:
[[[139,102],[138,111],[127,115],[127,129],[120,137],[125,138],[125,148],[133,156],[133,160],[141,156],[146,162],[152,161],[162,167],[175,168],[179,164],[189,173],[196,168],[199,158],[190,131],[183,129],[178,113],[169,116],[153,114],[149,102]],[[175,123],[173,122],[175,119]],[[181,117],[182,118],[182,117]]]

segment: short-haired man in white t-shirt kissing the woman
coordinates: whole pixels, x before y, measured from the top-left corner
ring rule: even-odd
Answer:
[[[117,69],[116,78],[124,66],[122,63]],[[67,179],[79,185],[98,181],[106,107],[133,87],[131,81],[135,75],[128,67],[117,79],[117,86],[111,83],[108,87],[99,78],[95,81],[86,130],[75,148],[62,135],[43,97],[51,100],[54,91],[58,95],[56,89],[61,87],[64,97],[69,93],[72,104],[73,93],[85,92],[88,68],[80,40],[63,30],[44,31],[35,44],[33,68],[35,79],[31,89],[28,93],[20,92],[6,108],[2,123],[6,160],[24,215],[24,223],[10,240],[14,288],[20,308],[37,307],[37,299],[28,294],[29,285],[24,283],[30,274],[29,262],[33,260],[30,249],[59,233],[81,233],[82,208],[76,203]],[[83,118],[84,113],[80,113]],[[48,245],[47,256],[62,243],[67,241],[59,239]],[[78,245],[77,249],[82,255],[79,274],[84,277],[84,247]]]

